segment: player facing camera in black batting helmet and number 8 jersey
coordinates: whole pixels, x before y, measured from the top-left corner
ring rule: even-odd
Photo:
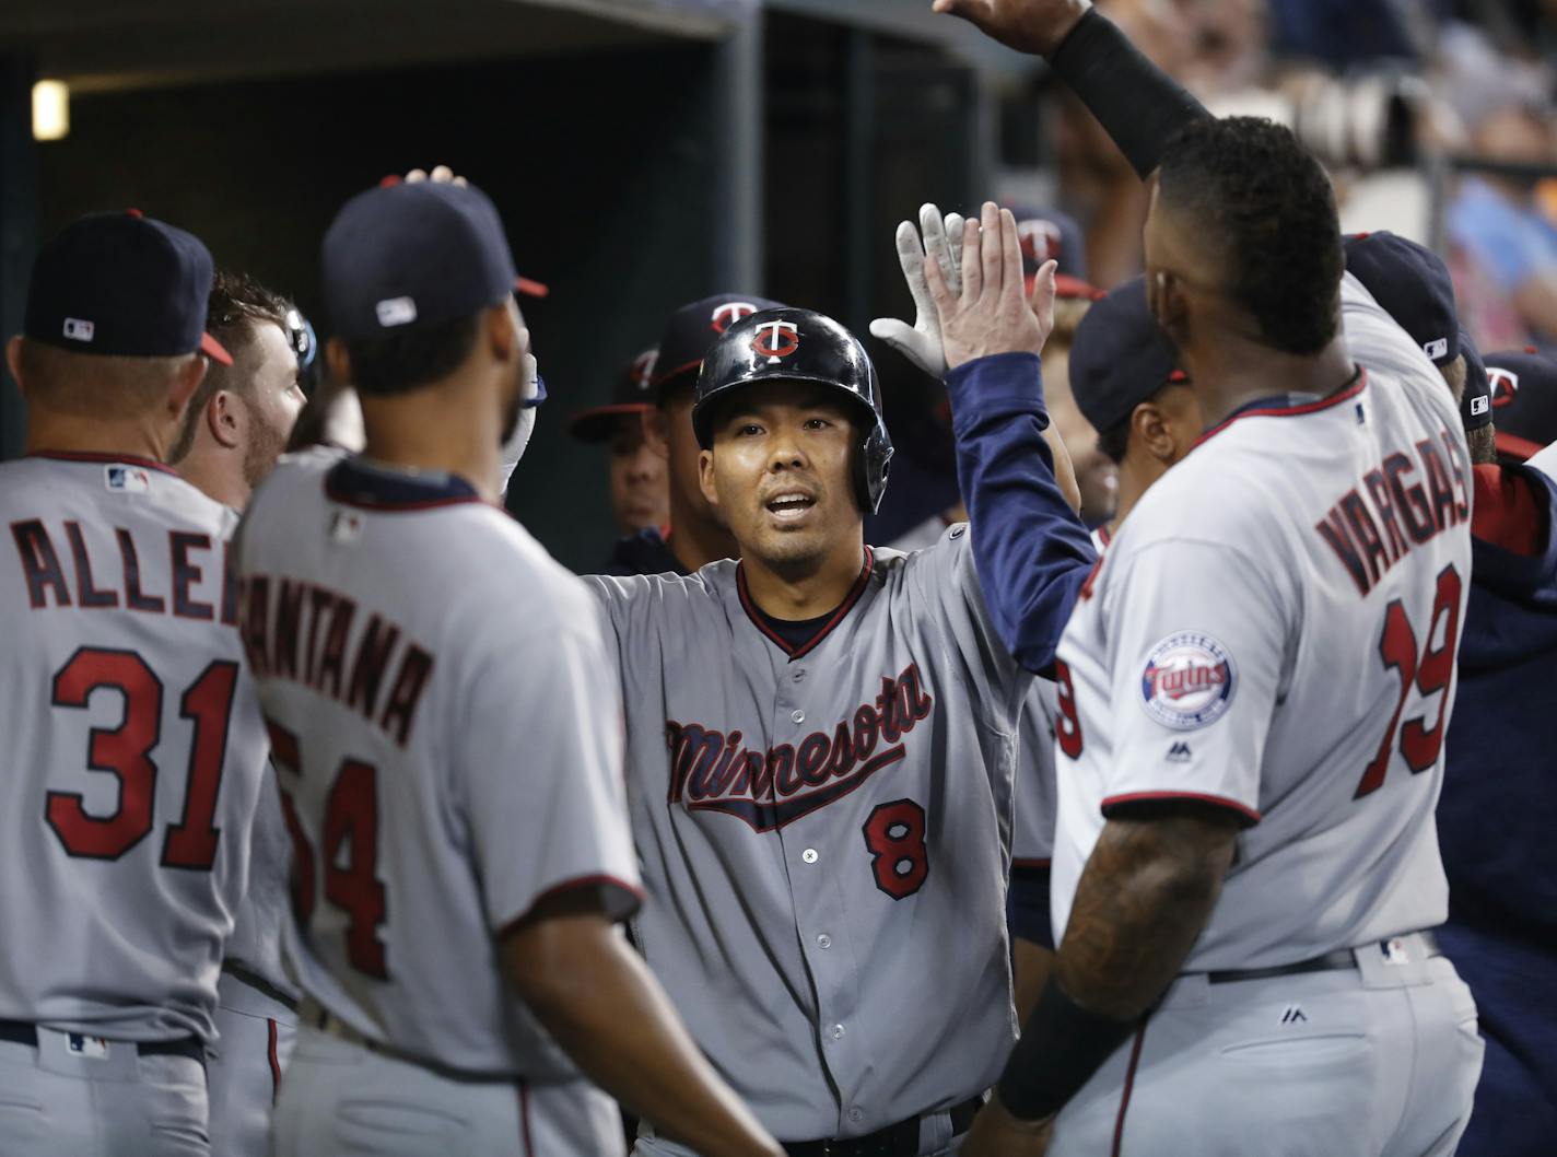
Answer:
[[[1003,321],[1042,347],[1037,316]],[[864,545],[892,445],[847,330],[793,308],[735,322],[691,419],[740,562],[587,579],[655,899],[634,941],[789,1154],[948,1152],[1015,1029],[1003,900],[1029,680],[965,526],[908,556]],[[1084,573],[1051,489],[1065,517],[1032,523],[1039,565]],[[698,1149],[646,1126],[637,1152]]]

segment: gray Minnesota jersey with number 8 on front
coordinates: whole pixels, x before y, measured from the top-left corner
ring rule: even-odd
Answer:
[[[967,526],[866,553],[800,645],[741,567],[592,578],[617,637],[635,941],[774,1135],[867,1134],[987,1088],[1015,1039],[1004,895],[1031,676]]]

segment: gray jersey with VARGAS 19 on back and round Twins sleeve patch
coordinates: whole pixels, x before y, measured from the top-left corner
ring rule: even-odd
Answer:
[[[1186,972],[1445,919],[1470,455],[1422,350],[1350,277],[1342,302],[1358,382],[1208,431],[1082,589],[1057,666],[1056,934],[1109,811],[1168,797],[1250,824]]]

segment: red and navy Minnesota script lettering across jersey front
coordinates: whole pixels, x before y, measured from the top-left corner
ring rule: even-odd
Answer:
[[[934,699],[920,687],[919,666],[883,679],[881,693],[828,732],[768,751],[743,746],[738,730],[665,721],[671,752],[671,804],[690,811],[722,811],[775,832],[825,808],[908,752],[903,738],[930,718]]]

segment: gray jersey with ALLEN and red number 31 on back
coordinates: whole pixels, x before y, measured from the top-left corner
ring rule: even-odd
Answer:
[[[154,462],[44,455],[0,466],[0,1017],[209,1040],[266,749],[235,517]]]

